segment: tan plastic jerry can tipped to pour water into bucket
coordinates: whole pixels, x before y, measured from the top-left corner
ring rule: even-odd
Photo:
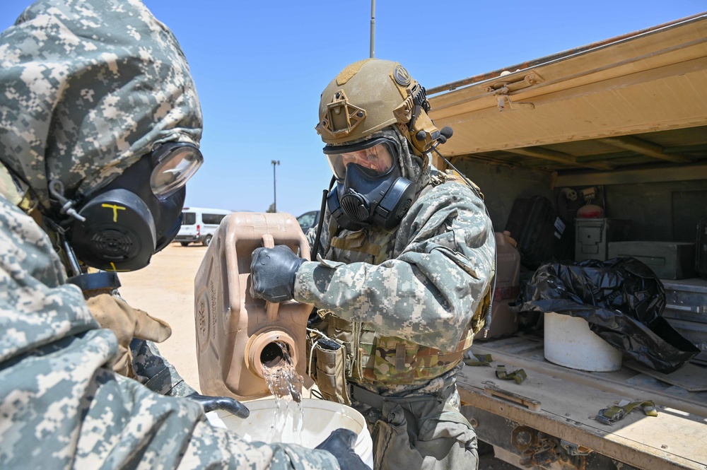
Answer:
[[[262,365],[282,358],[284,343],[305,375],[305,334],[312,305],[250,296],[250,258],[257,247],[287,245],[309,259],[310,247],[288,213],[234,212],[223,218],[194,279],[199,386],[239,400],[270,394]]]

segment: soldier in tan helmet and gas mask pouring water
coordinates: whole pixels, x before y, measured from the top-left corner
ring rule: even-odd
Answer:
[[[323,230],[308,233],[318,261],[287,247],[252,258],[252,293],[318,309],[310,374],[327,398],[364,413],[375,469],[478,465],[455,377],[484,324],[496,244],[474,185],[431,164],[451,132],[428,110],[395,62],[341,71],[317,124],[336,178]]]

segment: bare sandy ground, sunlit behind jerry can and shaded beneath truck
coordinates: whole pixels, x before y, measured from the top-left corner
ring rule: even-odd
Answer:
[[[160,343],[160,353],[175,365],[185,381],[199,389],[194,329],[194,276],[206,247],[173,243],[152,258],[145,269],[120,274],[120,294],[135,308],[168,322],[172,336]],[[487,447],[479,470],[512,470],[515,466],[493,458]],[[481,450],[480,449],[480,450]]]

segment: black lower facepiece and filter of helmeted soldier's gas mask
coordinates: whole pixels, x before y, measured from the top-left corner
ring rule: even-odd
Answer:
[[[346,230],[375,226],[392,230],[407,213],[414,184],[402,177],[397,164],[382,175],[371,175],[361,165],[346,165],[344,181],[329,192],[327,205],[337,224]]]

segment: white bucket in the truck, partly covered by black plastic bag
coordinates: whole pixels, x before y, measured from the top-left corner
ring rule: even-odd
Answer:
[[[545,358],[551,363],[590,372],[621,368],[621,353],[581,317],[545,312],[544,331]]]

